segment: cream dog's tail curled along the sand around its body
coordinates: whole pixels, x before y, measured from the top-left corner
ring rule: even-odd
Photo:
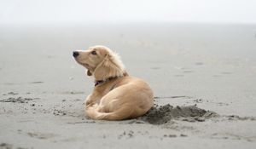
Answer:
[[[85,108],[86,115],[92,119],[98,120],[122,120],[131,118],[132,110],[127,106],[123,106],[114,112],[100,112],[98,106],[87,106]]]

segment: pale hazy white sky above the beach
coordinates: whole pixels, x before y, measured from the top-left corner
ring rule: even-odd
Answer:
[[[256,0],[0,0],[0,24],[256,23]]]

